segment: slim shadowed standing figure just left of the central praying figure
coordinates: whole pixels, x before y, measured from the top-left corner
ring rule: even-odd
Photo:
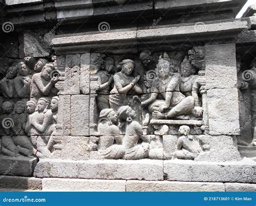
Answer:
[[[101,70],[98,70],[96,73],[98,77],[99,88],[97,92],[99,93],[97,96],[97,102],[99,110],[109,108],[109,93],[110,93],[110,85],[113,82],[113,75],[111,74],[114,68],[114,60],[111,57],[107,57],[104,59],[104,63],[101,67]],[[100,95],[103,94],[103,95]],[[105,94],[105,95],[104,95]]]

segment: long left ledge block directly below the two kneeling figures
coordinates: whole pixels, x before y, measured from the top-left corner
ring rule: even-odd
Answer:
[[[34,176],[111,180],[164,180],[163,160],[42,159]]]

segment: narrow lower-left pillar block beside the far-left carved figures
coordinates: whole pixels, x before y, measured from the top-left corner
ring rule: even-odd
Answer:
[[[59,96],[58,124],[62,125],[62,135],[71,135],[71,96]]]

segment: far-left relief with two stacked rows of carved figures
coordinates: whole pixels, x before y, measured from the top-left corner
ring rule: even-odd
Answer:
[[[1,80],[1,154],[5,156],[46,157],[53,145],[58,97],[51,97],[58,92],[54,87],[58,77],[52,74],[55,68],[47,59],[35,60],[25,58],[10,65]]]

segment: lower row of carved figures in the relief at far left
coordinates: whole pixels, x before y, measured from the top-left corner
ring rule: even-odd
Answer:
[[[58,101],[58,97],[53,97],[51,101],[40,98],[37,104],[33,100],[21,100],[15,106],[11,101],[3,102],[3,114],[0,116],[3,126],[0,131],[2,154],[11,157],[49,155],[54,145],[52,135],[56,131]]]

